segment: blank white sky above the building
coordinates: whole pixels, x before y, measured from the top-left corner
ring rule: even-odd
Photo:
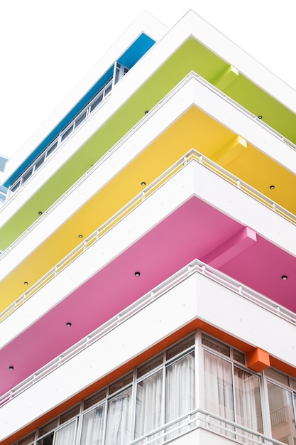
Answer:
[[[0,154],[26,142],[143,9],[169,27],[193,9],[296,90],[295,0],[0,0]]]

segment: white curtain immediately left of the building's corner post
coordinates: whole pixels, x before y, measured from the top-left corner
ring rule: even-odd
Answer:
[[[185,355],[166,369],[165,422],[177,419],[177,417],[190,412],[194,407],[195,371],[194,354],[192,353]],[[177,425],[173,425],[168,431],[175,427]],[[181,432],[184,432],[184,428],[175,430],[169,437],[181,434]]]

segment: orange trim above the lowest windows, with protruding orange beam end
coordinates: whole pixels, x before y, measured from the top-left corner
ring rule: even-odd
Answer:
[[[186,326],[183,326],[175,333],[172,333],[167,338],[164,338],[162,341],[160,341],[156,345],[153,345],[151,348],[144,351],[143,353],[138,355],[136,358],[133,358],[128,363],[125,363],[124,365],[120,366],[113,372],[110,372],[105,377],[102,377],[102,379],[97,380],[97,382],[95,382],[94,384],[85,388],[84,390],[82,390],[80,393],[78,393],[74,397],[71,397],[66,402],[60,404],[55,409],[52,409],[50,412],[44,414],[42,417],[39,417],[34,422],[29,424],[27,427],[16,432],[9,438],[4,439],[4,441],[1,442],[1,445],[11,445],[11,444],[13,444],[13,442],[16,442],[19,439],[22,439],[23,437],[25,437],[28,434],[31,434],[38,427],[41,427],[42,425],[46,424],[47,422],[50,422],[50,420],[54,419],[55,417],[59,416],[63,412],[67,411],[67,409],[70,409],[75,404],[81,402],[82,400],[86,399],[90,395],[94,394],[94,392],[99,391],[102,387],[109,385],[109,383],[111,383],[111,382],[114,382],[114,380],[116,380],[119,377],[121,377],[122,375],[126,374],[126,372],[132,370],[133,368],[136,368],[136,366],[138,366],[138,365],[141,365],[141,363],[145,362],[149,358],[152,358],[153,355],[160,353],[162,350],[168,348],[170,345],[174,344],[178,340],[181,340],[181,338],[187,336],[187,334],[191,333],[192,331],[195,331],[197,328],[202,329],[202,331],[205,331],[216,338],[219,338],[219,340],[224,341],[225,343],[228,343],[229,345],[233,346],[234,348],[242,350],[247,355],[248,367],[253,370],[256,370],[256,369],[252,368],[250,366],[249,360],[251,360],[251,359],[249,357],[252,357],[252,353],[254,355],[256,355],[256,353],[257,353],[258,358],[260,360],[263,360],[262,363],[265,364],[264,368],[262,368],[262,369],[265,369],[269,366],[269,365],[267,365],[267,361],[266,361],[267,356],[268,356],[268,358],[270,358],[270,366],[273,366],[274,368],[277,368],[280,371],[283,371],[289,375],[292,375],[293,377],[296,377],[296,369],[292,368],[292,366],[287,365],[286,363],[283,363],[276,358],[273,358],[267,352],[265,352],[264,350],[262,350],[260,348],[254,348],[252,345],[248,345],[248,343],[245,343],[245,342],[239,340],[239,338],[235,338],[235,337],[229,335],[228,333],[220,331],[218,328],[215,328],[214,326],[211,326],[208,323],[205,323],[202,320],[196,319],[196,320],[192,321],[191,323],[187,324]]]

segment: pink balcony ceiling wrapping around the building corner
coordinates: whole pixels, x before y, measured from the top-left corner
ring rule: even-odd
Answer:
[[[0,393],[79,341],[193,259],[222,250],[219,269],[296,311],[296,259],[192,197],[0,351]],[[250,241],[251,240],[251,241]],[[234,242],[233,242],[234,241]],[[213,258],[214,251],[214,258]],[[210,262],[211,264],[211,262]],[[141,272],[135,277],[136,271]],[[288,279],[281,277],[286,274]],[[180,296],[182,298],[182,296]],[[241,314],[231,313],[231,317]],[[66,323],[72,323],[67,328]],[[9,366],[13,364],[11,372]]]

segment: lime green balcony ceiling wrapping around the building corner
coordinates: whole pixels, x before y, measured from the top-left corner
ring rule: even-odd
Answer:
[[[295,114],[243,74],[229,76],[229,68],[231,68],[229,63],[221,60],[202,43],[192,37],[188,38],[136,92],[132,93],[107,122],[102,124],[96,134],[18,209],[13,218],[1,227],[1,250],[11,245],[38,219],[38,210],[44,211],[55,203],[57,198],[89,170],[90,166],[143,118],[145,110],[150,110],[158,104],[191,71],[216,85],[254,116],[262,116],[262,122],[273,127],[287,139],[296,142]]]

